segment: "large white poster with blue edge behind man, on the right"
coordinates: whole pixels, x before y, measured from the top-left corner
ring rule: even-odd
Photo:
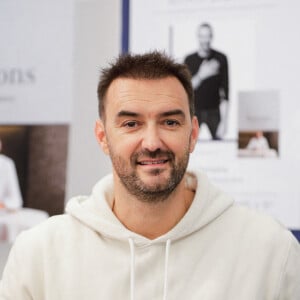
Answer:
[[[228,64],[228,93],[224,99],[220,96],[227,103],[226,130],[214,138],[213,125],[201,124],[190,168],[204,170],[237,202],[275,216],[297,234],[299,2],[131,0],[129,4],[128,50],[133,53],[158,49],[185,62],[200,53],[200,25],[210,26],[210,47]],[[221,59],[211,63],[213,68],[221,73]],[[220,115],[219,124],[222,111]]]

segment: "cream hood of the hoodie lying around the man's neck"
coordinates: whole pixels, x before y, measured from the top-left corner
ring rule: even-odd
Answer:
[[[166,234],[149,240],[128,230],[112,212],[113,175],[107,175],[93,188],[90,196],[72,198],[66,212],[99,234],[118,240],[134,240],[136,245],[147,245],[181,239],[218,218],[232,204],[233,200],[214,185],[206,175],[191,173],[197,180],[194,200],[180,222]]]

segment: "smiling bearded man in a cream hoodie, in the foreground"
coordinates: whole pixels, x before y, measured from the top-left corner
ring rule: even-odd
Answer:
[[[198,136],[186,67],[120,56],[98,96],[113,174],[19,236],[0,299],[299,299],[292,234],[186,172]]]

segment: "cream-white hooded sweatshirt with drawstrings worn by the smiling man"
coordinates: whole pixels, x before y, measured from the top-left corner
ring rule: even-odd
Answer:
[[[197,175],[195,199],[149,240],[111,210],[112,176],[67,214],[22,233],[5,268],[5,300],[298,300],[300,248],[269,217],[233,203]]]

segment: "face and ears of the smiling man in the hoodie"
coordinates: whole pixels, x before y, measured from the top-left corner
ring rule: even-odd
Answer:
[[[119,78],[105,99],[96,136],[114,176],[144,201],[166,198],[181,181],[198,136],[187,94],[175,77]]]

